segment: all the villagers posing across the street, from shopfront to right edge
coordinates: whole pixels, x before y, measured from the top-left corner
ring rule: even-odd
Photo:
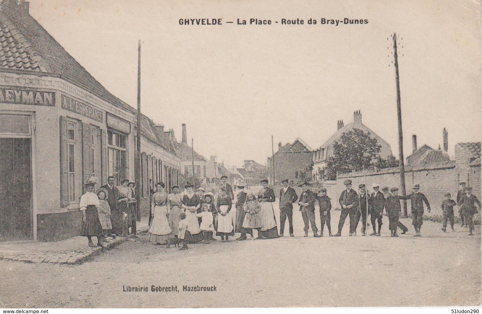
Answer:
[[[352,188],[352,181],[344,181],[345,189],[342,191],[338,202],[341,207],[338,230],[332,234],[331,230],[331,199],[327,196],[326,188],[320,188],[317,193],[310,190],[310,184],[303,182],[299,185],[302,193],[299,196],[295,189],[289,186],[288,179],[281,181],[282,188],[279,195],[280,205],[280,234],[273,210],[275,193],[268,187],[268,180],[261,180],[262,188],[257,195],[246,192],[244,183],[235,185],[239,189],[236,202],[232,187],[227,183],[227,176],[221,177],[221,185],[215,197],[212,192],[199,188],[194,191],[191,184],[185,185],[181,191],[178,186],[172,187],[172,193],[164,191],[162,182],[155,184],[156,191],[151,195],[150,220],[147,240],[156,245],[182,243],[181,250],[187,249],[187,243],[204,242],[209,244],[221,237],[221,241],[229,241],[235,233],[241,236],[237,240],[246,240],[248,235],[254,238],[253,230],[257,230],[257,239],[274,239],[284,236],[286,219],[289,224],[289,234],[294,237],[293,205],[299,205],[299,210],[304,222],[304,237],[308,237],[311,225],[314,237],[322,237],[324,226],[328,228],[330,237],[340,237],[347,217],[349,217],[349,236],[357,235],[357,227],[362,220],[362,235],[366,234],[367,217],[373,232],[370,236],[380,236],[383,225],[383,213],[388,216],[388,229],[392,237],[398,237],[397,229],[402,234],[408,228],[399,221],[402,212],[401,200],[411,201],[412,225],[415,228],[414,237],[421,236],[423,214],[425,207],[430,213],[430,204],[420,186],[414,185],[413,192],[402,196],[396,187],[380,188],[373,184],[373,192],[368,194],[366,186],[360,184],[358,193]],[[114,186],[115,177],[109,176],[107,185],[102,186],[94,193],[95,178],[91,177],[84,186],[87,192],[80,198],[80,210],[83,216],[82,235],[87,236],[89,246],[95,246],[92,237],[98,239],[98,246],[106,246],[105,238],[109,235],[115,237],[122,233],[123,216],[128,217],[128,222],[135,219],[131,202],[134,200],[134,182],[127,179],[121,180],[119,187]],[[315,203],[320,208],[321,228],[315,222]],[[425,206],[424,206],[425,205]],[[233,206],[236,214],[233,215]],[[473,235],[473,215],[481,208],[481,203],[472,195],[472,188],[466,187],[465,182],[460,183],[456,201],[451,199],[450,193],[445,194],[442,201],[443,224],[442,231],[446,232],[448,222],[454,230],[454,206],[458,206],[462,226],[469,227],[469,235]],[[478,206],[478,208],[477,208]],[[128,226],[127,226],[128,227]],[[124,226],[125,228],[125,226]],[[319,233],[320,231],[320,233]]]

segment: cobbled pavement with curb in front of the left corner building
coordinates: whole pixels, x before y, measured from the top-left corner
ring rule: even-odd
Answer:
[[[122,242],[127,241],[128,238],[118,237],[116,239],[112,239],[107,242],[107,248],[102,247],[95,247],[95,248],[88,248],[86,250],[82,250],[82,253],[78,252],[76,256],[62,256],[66,255],[63,252],[55,252],[53,254],[49,253],[49,251],[45,251],[45,256],[40,256],[39,254],[41,251],[36,251],[36,254],[32,254],[33,256],[28,256],[28,252],[20,252],[17,254],[0,256],[0,260],[11,260],[11,261],[19,261],[25,263],[52,263],[52,264],[80,264],[86,260],[88,260],[91,256],[97,256],[101,252],[107,249],[111,249]],[[72,252],[69,250],[68,252]],[[71,254],[70,254],[71,255]]]

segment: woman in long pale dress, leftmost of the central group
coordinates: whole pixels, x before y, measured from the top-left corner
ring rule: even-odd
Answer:
[[[172,230],[167,221],[167,194],[164,192],[164,183],[156,183],[157,192],[152,195],[152,221],[147,233],[149,242],[156,242],[156,245],[162,245],[167,242],[168,238],[172,238]]]

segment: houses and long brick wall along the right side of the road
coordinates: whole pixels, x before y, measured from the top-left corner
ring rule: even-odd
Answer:
[[[321,146],[312,150],[302,139],[297,138],[293,143],[278,145],[274,154],[275,182],[281,179],[297,181],[315,181],[327,188],[331,197],[340,195],[344,189],[343,180],[350,178],[353,186],[364,183],[362,173],[338,173],[336,180],[324,179],[324,168],[330,157],[333,156],[333,147],[343,133],[353,129],[361,129],[370,133],[371,138],[376,138],[380,148],[380,156],[388,159],[392,156],[390,144],[362,123],[361,111],[353,113],[353,122],[345,125],[343,120],[337,121],[337,129]],[[435,210],[432,214],[441,214],[440,205],[443,194],[451,192],[456,195],[460,182],[466,182],[473,188],[475,195],[481,195],[481,142],[456,143],[455,158],[448,154],[448,131],[442,130],[443,147],[433,149],[428,145],[417,146],[417,136],[412,136],[412,153],[405,159],[405,186],[410,190],[412,184],[420,184],[422,191],[433,204]],[[268,177],[272,178],[272,158],[268,157]],[[383,184],[387,186],[400,185],[400,170],[398,167],[368,170],[365,173],[367,184]],[[273,183],[273,182],[272,182]]]

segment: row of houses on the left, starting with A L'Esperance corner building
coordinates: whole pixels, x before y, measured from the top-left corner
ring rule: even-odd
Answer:
[[[0,241],[66,239],[80,232],[82,184],[135,178],[137,111],[111,94],[29,14],[0,1]],[[215,184],[233,172],[141,115],[141,216],[156,182],[167,191],[194,172]],[[194,158],[194,169],[192,162]]]

